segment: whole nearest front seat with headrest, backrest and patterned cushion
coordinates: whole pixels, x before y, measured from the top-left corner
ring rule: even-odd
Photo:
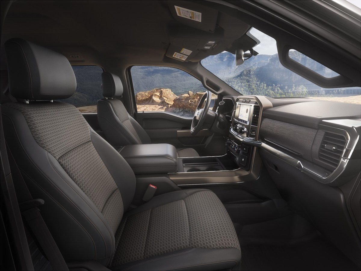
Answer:
[[[5,139],[32,197],[44,199],[39,208],[67,262],[97,261],[112,270],[238,270],[238,238],[213,192],[176,190],[129,210],[136,185],[131,167],[77,108],[50,101],[76,89],[66,57],[17,38],[5,50],[10,93],[26,101],[1,108]]]

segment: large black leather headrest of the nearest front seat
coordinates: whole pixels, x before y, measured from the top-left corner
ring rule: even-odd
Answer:
[[[65,99],[77,89],[73,69],[64,55],[18,38],[6,41],[5,51],[9,90],[15,98]]]

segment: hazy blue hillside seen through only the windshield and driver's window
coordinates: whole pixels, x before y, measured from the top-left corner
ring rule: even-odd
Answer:
[[[290,57],[326,77],[335,72],[306,57],[291,51]],[[278,55],[257,55],[236,66],[235,55],[229,52],[209,56],[201,61],[210,72],[221,78],[241,94],[258,94],[272,97],[322,95],[317,85],[284,68]],[[134,66],[131,69],[135,93],[155,88],[169,88],[176,95],[188,90],[204,91],[201,83],[189,74],[174,68]]]

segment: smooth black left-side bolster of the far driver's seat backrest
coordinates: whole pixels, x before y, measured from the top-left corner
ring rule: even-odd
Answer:
[[[97,103],[98,119],[106,139],[112,146],[124,146],[139,144],[138,140],[129,132],[114,113],[114,110],[106,100],[99,100]]]

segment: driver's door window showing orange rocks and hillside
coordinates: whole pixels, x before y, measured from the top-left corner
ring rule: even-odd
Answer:
[[[205,89],[190,74],[170,67],[133,66],[130,70],[136,107],[193,117]]]

